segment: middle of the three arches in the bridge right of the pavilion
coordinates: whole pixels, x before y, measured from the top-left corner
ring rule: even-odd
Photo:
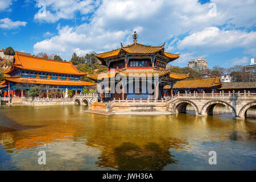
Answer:
[[[230,104],[228,104],[227,102],[224,102],[224,101],[209,101],[209,102],[207,102],[207,104],[205,104],[202,107],[201,114],[213,115],[213,107],[216,106],[217,104],[227,106],[230,109],[230,111],[232,111],[233,117],[236,117],[236,115],[237,115],[236,109],[234,109],[234,107],[232,107]]]

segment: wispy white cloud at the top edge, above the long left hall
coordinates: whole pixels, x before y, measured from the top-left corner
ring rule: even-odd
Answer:
[[[59,19],[72,19],[76,12],[92,13],[99,1],[86,0],[35,0],[39,9],[34,19],[40,22],[55,23]]]

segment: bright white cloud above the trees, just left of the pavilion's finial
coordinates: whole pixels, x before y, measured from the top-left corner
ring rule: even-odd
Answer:
[[[69,26],[60,27],[58,35],[36,43],[34,45],[34,52],[60,52],[59,54],[64,57],[70,57],[73,52],[76,52],[82,56],[82,53],[90,53],[92,50],[100,52],[102,49],[117,47],[119,46],[117,42],[128,34],[128,31],[103,32],[101,30],[86,34],[86,32],[79,33],[77,28]]]

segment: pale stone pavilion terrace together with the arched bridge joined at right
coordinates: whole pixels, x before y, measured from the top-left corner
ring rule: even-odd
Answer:
[[[114,100],[106,104],[106,109],[114,112],[123,112],[130,108],[185,113],[188,104],[193,106],[196,115],[212,115],[215,105],[225,105],[232,111],[233,118],[243,119],[247,109],[256,105],[256,93],[177,93],[174,97],[162,100]]]

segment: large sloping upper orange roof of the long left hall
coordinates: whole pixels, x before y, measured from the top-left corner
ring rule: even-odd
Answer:
[[[64,73],[70,75],[86,75],[84,72],[78,71],[69,61],[55,61],[43,59],[28,54],[21,54],[16,52],[11,70],[5,73],[10,73],[15,68],[27,69],[32,71],[42,71],[51,73]]]

